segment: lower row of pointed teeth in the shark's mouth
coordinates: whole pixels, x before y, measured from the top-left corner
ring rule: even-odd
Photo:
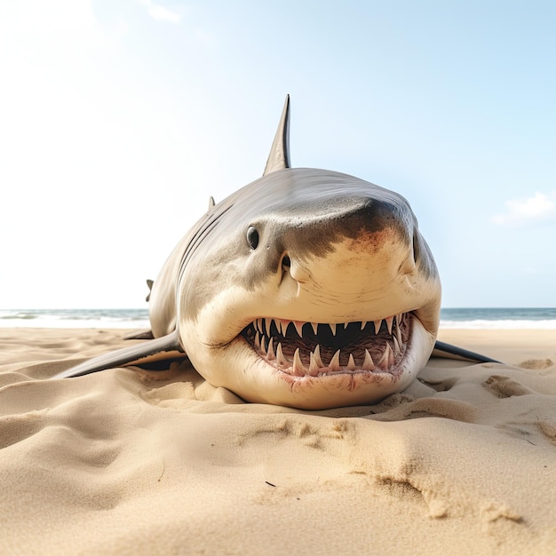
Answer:
[[[301,356],[299,354],[299,348],[296,349],[295,353],[293,354],[293,361],[288,361],[282,352],[282,343],[278,343],[278,346],[274,348],[274,338],[270,338],[268,340],[268,346],[266,346],[266,338],[264,336],[259,337],[258,333],[255,335],[255,346],[257,349],[265,355],[268,361],[276,361],[276,364],[280,367],[291,367],[292,374],[296,376],[306,376],[311,375],[316,377],[322,369],[326,369],[327,366],[324,365],[321,359],[321,347],[317,344],[314,348],[313,352],[309,352],[309,368],[307,369],[306,366],[301,361]],[[330,363],[328,364],[328,369],[330,371],[338,371],[342,370],[342,366],[340,365],[340,351],[334,353],[330,359]],[[349,354],[349,359],[347,361],[346,369],[349,370],[388,370],[390,369],[393,364],[395,363],[395,356],[401,354],[401,348],[397,341],[397,339],[393,338],[393,348],[390,346],[388,342],[386,342],[385,351],[382,354],[380,360],[375,363],[370,356],[369,350],[365,350],[365,357],[361,364],[361,367],[358,367],[355,364],[355,360],[353,359],[353,354]]]

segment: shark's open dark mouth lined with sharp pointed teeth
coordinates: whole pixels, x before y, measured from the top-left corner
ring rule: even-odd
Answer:
[[[316,323],[260,318],[242,330],[258,356],[290,377],[401,375],[413,315],[369,322]]]

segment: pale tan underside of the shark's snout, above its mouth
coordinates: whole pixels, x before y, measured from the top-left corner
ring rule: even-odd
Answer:
[[[274,313],[300,321],[351,322],[385,318],[418,305],[420,289],[411,243],[395,226],[358,234],[335,234],[322,242],[315,226],[314,245],[306,249],[292,230],[282,235],[277,260]],[[304,230],[304,241],[311,236]]]

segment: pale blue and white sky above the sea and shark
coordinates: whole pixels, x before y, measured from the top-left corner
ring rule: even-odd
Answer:
[[[405,196],[443,306],[556,306],[556,4],[0,3],[0,308],[146,307],[181,236],[294,167]]]

